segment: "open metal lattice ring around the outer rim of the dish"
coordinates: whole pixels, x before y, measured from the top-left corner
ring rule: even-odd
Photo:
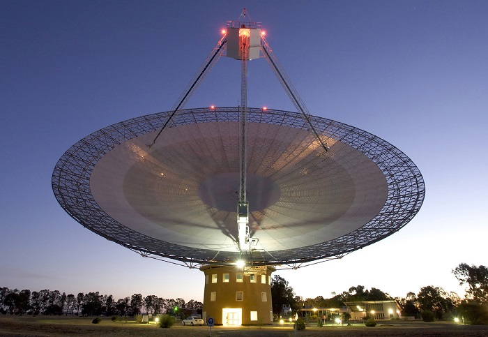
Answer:
[[[342,257],[353,250],[388,237],[404,227],[418,213],[425,197],[422,174],[412,160],[392,144],[371,133],[330,119],[310,116],[321,140],[345,144],[369,158],[383,172],[388,192],[381,210],[357,230],[319,244],[292,249],[250,250],[242,256],[238,250],[212,250],[185,246],[155,239],[130,229],[106,213],[92,194],[91,177],[97,163],[121,144],[155,133],[169,119],[171,112],[150,114],[107,126],[84,137],[61,156],[52,175],[52,188],[61,207],[77,222],[92,232],[144,256],[177,260],[188,267],[199,264],[227,264],[245,258],[252,265],[284,264],[299,267],[317,260]],[[238,122],[238,107],[198,108],[178,112],[171,128],[201,123]],[[248,123],[286,126],[309,130],[298,112],[247,109]],[[317,157],[334,160],[333,147]],[[374,191],[372,191],[374,193]]]

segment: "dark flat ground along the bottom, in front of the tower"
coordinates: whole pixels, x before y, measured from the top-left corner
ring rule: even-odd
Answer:
[[[103,318],[100,324],[92,324],[93,317],[52,317],[52,316],[8,316],[0,315],[0,336],[175,336],[175,337],[294,337],[293,326],[279,324],[270,327],[174,327],[162,329],[155,324],[135,324],[135,322],[112,322]],[[347,326],[307,327],[297,331],[299,337],[322,336],[485,336],[488,326],[458,325],[453,322],[378,322],[376,327],[364,324]]]

